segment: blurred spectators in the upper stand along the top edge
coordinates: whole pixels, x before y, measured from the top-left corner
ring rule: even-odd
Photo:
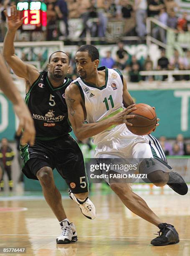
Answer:
[[[147,34],[146,18],[155,17],[161,23],[178,32],[189,30],[187,13],[178,15],[180,7],[175,0],[44,0],[47,4],[47,40],[69,35],[68,20],[81,18],[82,30],[79,38],[106,36],[109,20],[124,21],[124,36],[139,36],[139,40]],[[1,39],[5,35],[5,16],[3,10],[15,5],[16,1],[0,0]],[[154,27],[152,34],[161,41],[166,41],[165,30]]]

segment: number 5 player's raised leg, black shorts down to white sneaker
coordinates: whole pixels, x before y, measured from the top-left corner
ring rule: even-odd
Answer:
[[[88,197],[84,159],[79,145],[71,136],[64,136],[56,143],[56,169],[70,188],[69,196],[80,207],[82,214],[96,218],[96,208]]]

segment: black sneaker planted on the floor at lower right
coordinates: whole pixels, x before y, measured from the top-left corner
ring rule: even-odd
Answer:
[[[151,241],[154,246],[165,246],[169,244],[179,243],[179,235],[173,225],[167,223],[161,223],[158,225],[160,231],[155,239]],[[157,234],[155,234],[157,235]]]

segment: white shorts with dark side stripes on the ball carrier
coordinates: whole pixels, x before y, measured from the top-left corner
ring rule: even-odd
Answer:
[[[121,162],[123,160],[123,163],[129,160],[129,163],[138,164],[138,172],[142,174],[149,174],[157,170],[170,172],[172,169],[167,164],[162,146],[154,136],[137,136],[127,128],[117,134],[117,137],[114,136],[98,143],[95,158],[99,159],[99,162],[100,159],[104,162],[105,158],[119,158]],[[120,171],[116,170],[116,172]]]

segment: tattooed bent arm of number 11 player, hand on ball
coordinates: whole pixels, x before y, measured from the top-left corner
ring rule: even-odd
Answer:
[[[122,123],[132,125],[131,123],[127,122],[127,119],[134,117],[134,115],[128,115],[130,112],[136,109],[134,108],[134,105],[129,106],[127,109],[123,110],[117,115],[114,115],[114,117],[102,120],[98,123],[84,123],[84,106],[78,86],[71,83],[66,88],[65,93],[68,107],[68,118],[71,122],[76,137],[80,141],[105,131],[111,125],[119,125]]]

